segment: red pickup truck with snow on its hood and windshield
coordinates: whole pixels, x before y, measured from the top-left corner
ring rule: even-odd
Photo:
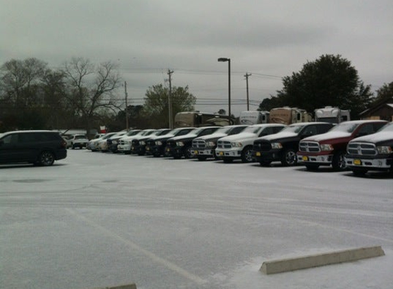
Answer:
[[[335,171],[344,171],[346,145],[353,138],[374,134],[387,121],[345,121],[326,134],[311,136],[299,143],[298,162],[313,171],[319,166],[332,166]]]

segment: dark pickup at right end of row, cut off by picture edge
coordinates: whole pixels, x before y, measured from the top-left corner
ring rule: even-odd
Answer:
[[[381,127],[375,134],[350,140],[345,162],[355,175],[364,175],[368,171],[393,173],[393,122]]]

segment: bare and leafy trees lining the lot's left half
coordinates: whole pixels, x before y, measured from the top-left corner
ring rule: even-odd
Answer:
[[[123,81],[112,62],[93,64],[72,58],[49,68],[36,58],[10,60],[0,66],[0,132],[14,129],[97,129],[168,127],[169,89],[147,89],[145,105],[127,105]],[[194,110],[195,97],[185,88],[171,88],[173,114]]]

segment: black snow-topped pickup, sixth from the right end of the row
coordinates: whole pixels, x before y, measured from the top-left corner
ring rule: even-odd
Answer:
[[[182,156],[184,156],[184,158],[193,158],[194,151],[191,149],[193,139],[213,134],[219,128],[220,127],[216,126],[198,127],[184,136],[169,138],[169,140],[167,140],[167,151],[175,159],[180,159]]]

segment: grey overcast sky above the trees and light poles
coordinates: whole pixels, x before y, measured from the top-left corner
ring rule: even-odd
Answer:
[[[0,64],[109,60],[134,105],[170,69],[197,109],[228,112],[228,63],[217,58],[230,58],[237,116],[246,110],[246,73],[253,110],[281,90],[281,77],[323,54],[349,60],[373,90],[392,82],[392,0],[0,0]]]

